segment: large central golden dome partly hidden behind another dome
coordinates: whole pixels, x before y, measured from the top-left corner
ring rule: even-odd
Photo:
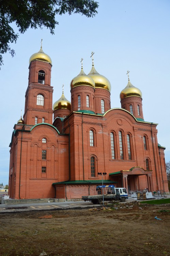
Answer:
[[[110,84],[109,80],[104,75],[100,75],[95,70],[94,65],[92,65],[92,69],[91,69],[90,73],[88,74],[88,76],[90,76],[94,80],[95,88],[102,88],[102,89],[111,91],[111,84]]]

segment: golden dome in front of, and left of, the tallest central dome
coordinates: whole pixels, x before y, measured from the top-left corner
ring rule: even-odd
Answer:
[[[73,87],[80,85],[87,85],[93,88],[95,87],[93,79],[84,73],[83,68],[81,68],[80,74],[72,79],[70,88],[72,89]]]

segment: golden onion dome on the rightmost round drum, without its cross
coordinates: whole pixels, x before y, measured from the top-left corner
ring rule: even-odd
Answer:
[[[133,86],[130,83],[130,81],[128,80],[127,86],[120,93],[120,99],[122,100],[122,99],[124,99],[126,97],[130,97],[130,96],[138,96],[138,97],[142,98],[142,92],[141,92],[141,90],[139,90],[138,88]]]

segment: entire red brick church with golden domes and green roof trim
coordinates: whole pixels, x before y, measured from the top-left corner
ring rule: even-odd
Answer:
[[[25,112],[10,143],[10,198],[81,198],[102,184],[129,190],[148,188],[169,194],[165,147],[157,124],[144,121],[142,93],[129,81],[120,92],[121,108],[110,106],[111,84],[93,63],[53,104],[51,58],[41,49],[29,60]],[[124,87],[124,86],[122,86]]]

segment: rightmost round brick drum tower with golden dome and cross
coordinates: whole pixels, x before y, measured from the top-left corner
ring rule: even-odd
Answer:
[[[120,93],[121,108],[129,111],[136,118],[143,119],[142,92],[130,83],[129,71],[127,75],[128,84]]]

